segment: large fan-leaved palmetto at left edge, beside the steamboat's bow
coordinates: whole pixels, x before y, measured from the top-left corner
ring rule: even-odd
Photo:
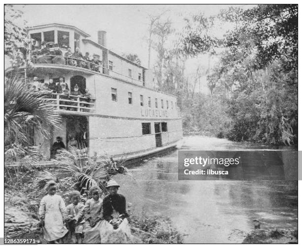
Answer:
[[[26,155],[35,159],[37,147],[31,147],[28,129],[49,137],[49,130],[58,127],[61,118],[53,104],[34,93],[18,77],[4,82],[4,156],[6,162],[20,161]]]

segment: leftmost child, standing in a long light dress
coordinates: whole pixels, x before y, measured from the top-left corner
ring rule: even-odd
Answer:
[[[45,188],[47,195],[42,198],[39,207],[40,225],[44,239],[48,243],[59,244],[60,239],[68,232],[63,224],[65,203],[61,196],[56,195],[57,186],[54,181],[47,182]]]

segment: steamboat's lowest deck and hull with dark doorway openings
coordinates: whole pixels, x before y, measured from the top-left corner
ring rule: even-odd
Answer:
[[[35,145],[41,146],[40,153],[46,158],[50,158],[57,136],[67,150],[84,150],[91,157],[115,159],[145,156],[176,146],[182,139],[181,119],[134,120],[91,114],[62,117],[60,128],[50,130],[50,139],[35,133]]]

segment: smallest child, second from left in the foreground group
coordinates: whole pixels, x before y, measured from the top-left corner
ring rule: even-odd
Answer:
[[[69,232],[72,234],[76,233],[76,244],[82,244],[83,234],[83,211],[84,205],[80,203],[80,193],[78,191],[72,191],[70,193],[70,199],[72,204],[66,207],[66,218],[65,221],[69,226]]]

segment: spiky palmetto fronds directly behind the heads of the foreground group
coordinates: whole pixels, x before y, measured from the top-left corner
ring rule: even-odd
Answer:
[[[58,166],[55,171],[45,170],[37,173],[39,187],[43,187],[49,180],[54,180],[61,189],[84,192],[92,186],[99,186],[102,194],[106,195],[106,183],[114,174],[128,174],[127,169],[122,166],[123,162],[113,162],[112,159],[97,162],[87,156],[85,149],[60,150],[56,160]]]

